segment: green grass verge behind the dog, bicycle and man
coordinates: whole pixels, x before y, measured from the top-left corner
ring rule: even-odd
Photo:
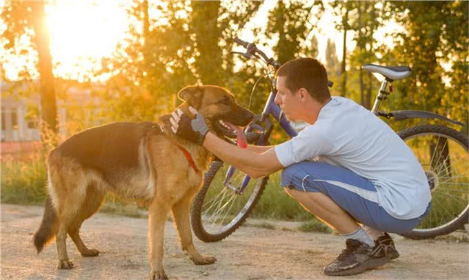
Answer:
[[[450,147],[455,151],[457,148]],[[45,153],[37,152],[23,161],[3,158],[1,161],[1,189],[0,201],[1,203],[17,203],[25,205],[43,205],[46,200],[46,164]],[[420,228],[428,228],[432,226],[435,221],[448,221],[452,219],[450,216],[453,213],[459,213],[461,208],[467,206],[468,192],[467,186],[468,178],[467,171],[467,154],[462,154],[461,158],[457,158],[457,164],[453,165],[453,170],[461,177],[457,177],[448,182],[441,190],[433,193],[432,211],[423,219],[419,226]],[[419,154],[420,155],[420,154]],[[210,195],[216,195],[217,187],[221,187],[226,172],[223,170],[218,172],[217,177],[214,179],[212,186],[209,189],[206,201],[210,199]],[[242,177],[240,177],[242,179]],[[239,196],[237,205],[233,207],[233,213],[228,213],[226,217],[234,217],[241,210],[244,203],[248,199],[250,192],[255,187],[257,180],[252,179],[245,194]],[[219,191],[219,190],[218,190]],[[458,200],[455,200],[458,197]],[[453,209],[454,208],[454,209]],[[128,203],[123,201],[117,196],[107,195],[106,202],[101,207],[101,212],[120,214],[128,217],[145,217],[146,213],[143,212],[136,203]],[[450,217],[446,217],[450,216]],[[299,226],[298,230],[301,231],[316,231],[316,232],[331,232],[330,228],[325,224],[315,219],[314,215],[304,210],[299,203],[286,194],[280,186],[280,172],[272,174],[267,183],[261,199],[258,201],[257,206],[251,212],[250,217],[257,219],[277,219],[285,221],[304,221]],[[220,221],[221,224],[229,223],[230,220]],[[264,228],[271,228],[271,226],[264,225]]]

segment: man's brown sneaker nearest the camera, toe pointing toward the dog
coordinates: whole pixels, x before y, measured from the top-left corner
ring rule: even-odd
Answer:
[[[324,268],[324,273],[330,276],[359,274],[388,263],[390,260],[384,254],[379,256],[374,254],[375,248],[355,239],[347,239],[346,249]]]

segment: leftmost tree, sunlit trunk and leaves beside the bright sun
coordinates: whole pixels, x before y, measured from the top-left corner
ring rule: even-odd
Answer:
[[[6,1],[1,19],[6,23],[2,37],[8,40],[6,49],[15,48],[19,37],[32,34],[32,45],[37,52],[40,79],[41,119],[44,131],[57,132],[57,103],[52,74],[52,57],[46,25],[44,1]],[[43,134],[48,135],[48,134]]]

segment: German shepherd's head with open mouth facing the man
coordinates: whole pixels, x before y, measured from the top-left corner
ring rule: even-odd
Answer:
[[[232,134],[232,126],[247,126],[254,114],[234,100],[233,94],[219,86],[188,86],[178,93],[179,99],[205,117],[212,132]],[[230,133],[231,132],[231,133]]]

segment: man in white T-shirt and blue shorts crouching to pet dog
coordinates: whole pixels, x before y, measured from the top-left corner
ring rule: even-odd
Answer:
[[[290,121],[310,125],[290,141],[233,146],[208,131],[194,110],[195,119],[173,112],[172,130],[250,177],[283,169],[286,192],[346,239],[326,274],[357,274],[399,257],[386,232],[408,232],[430,211],[430,187],[412,150],[370,111],[331,98],[326,69],[316,59],[288,61],[276,77],[275,103]]]

